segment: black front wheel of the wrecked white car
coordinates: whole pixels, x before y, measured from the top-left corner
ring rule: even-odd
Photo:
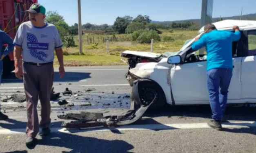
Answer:
[[[165,93],[163,92],[162,87],[160,87],[158,83],[149,79],[140,79],[137,83],[138,83],[138,95],[140,98],[140,102],[143,105],[148,105],[149,103],[151,103],[151,101],[154,100],[155,95],[157,94],[156,99],[150,105],[149,109],[158,110],[163,108],[163,106],[166,104],[166,98],[165,98]],[[141,105],[141,104],[136,103],[136,105]]]

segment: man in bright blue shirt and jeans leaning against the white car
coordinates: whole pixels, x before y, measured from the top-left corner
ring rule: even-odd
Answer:
[[[207,50],[207,86],[212,118],[209,127],[221,130],[221,118],[227,104],[227,93],[232,78],[233,59],[232,42],[241,37],[238,26],[233,26],[231,31],[217,30],[213,24],[204,27],[205,34],[196,38],[192,44],[193,50],[205,46]],[[220,88],[220,92],[219,92]]]

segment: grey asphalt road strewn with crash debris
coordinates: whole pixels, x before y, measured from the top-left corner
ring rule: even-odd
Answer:
[[[53,133],[44,138],[38,136],[37,145],[32,148],[24,143],[26,103],[1,102],[2,111],[10,119],[0,121],[0,153],[256,153],[255,105],[228,106],[225,117],[229,123],[223,124],[224,131],[207,127],[211,119],[209,105],[167,105],[160,111],[147,111],[141,120],[117,129],[65,131],[61,128],[63,120],[57,115],[63,112],[86,110],[109,115],[127,111],[129,98],[123,98],[131,89],[124,77],[127,70],[127,66],[66,68],[63,79],[58,78],[56,71],[54,91],[61,93],[59,100],[92,105],[70,109],[59,106],[59,100],[52,101]],[[72,90],[72,96],[62,95],[66,87]],[[94,90],[85,92],[89,88]],[[0,93],[1,100],[12,94],[24,94],[22,81],[14,74],[3,76]],[[40,103],[38,114],[40,117]]]

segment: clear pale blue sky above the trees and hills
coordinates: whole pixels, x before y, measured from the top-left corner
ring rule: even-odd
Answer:
[[[47,11],[57,11],[69,25],[78,23],[77,0],[38,0]],[[214,0],[213,17],[256,13],[256,0]],[[116,17],[139,14],[151,20],[199,19],[201,0],[81,0],[82,24],[112,25]]]

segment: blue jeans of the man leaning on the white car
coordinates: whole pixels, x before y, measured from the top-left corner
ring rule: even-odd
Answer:
[[[224,115],[231,78],[232,70],[228,68],[215,68],[207,71],[207,86],[214,120],[221,120]]]

